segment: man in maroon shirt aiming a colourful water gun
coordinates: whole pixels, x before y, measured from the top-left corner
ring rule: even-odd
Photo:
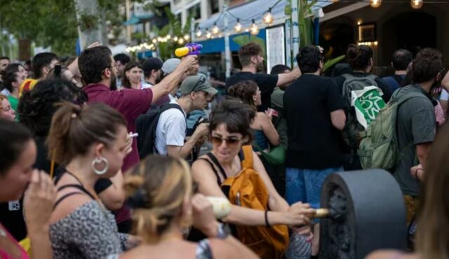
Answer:
[[[83,77],[84,91],[88,95],[88,102],[105,102],[121,112],[128,121],[128,131],[135,131],[135,119],[148,111],[152,103],[164,95],[168,95],[181,81],[182,75],[196,62],[196,55],[182,59],[172,73],[152,88],[142,90],[123,89],[111,91],[116,82],[116,68],[114,58],[109,48],[98,46],[88,48],[79,56],[79,70]],[[133,151],[123,161],[122,171],[138,164],[139,154],[137,141],[133,140]]]

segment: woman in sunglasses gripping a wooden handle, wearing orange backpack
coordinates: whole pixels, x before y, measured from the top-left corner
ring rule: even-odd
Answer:
[[[209,124],[213,150],[210,154],[196,160],[192,166],[192,175],[199,185],[201,194],[228,198],[220,189],[220,185],[226,178],[235,177],[244,169],[241,164],[242,147],[251,142],[250,124],[254,117],[254,109],[243,104],[240,100],[223,100],[213,108]],[[288,206],[287,201],[276,192],[255,152],[252,152],[252,157],[252,167],[262,179],[269,194],[269,210],[260,211],[232,205],[229,215],[223,221],[233,225],[246,226],[308,225],[308,215],[313,215],[314,209],[311,209],[309,204],[301,203]],[[224,171],[225,175],[216,173],[218,171]],[[231,201],[231,203],[235,202]],[[311,239],[308,227],[302,234],[308,235]]]

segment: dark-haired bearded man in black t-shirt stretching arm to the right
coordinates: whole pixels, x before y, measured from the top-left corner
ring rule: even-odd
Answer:
[[[293,80],[300,77],[299,68],[285,74],[262,74],[264,70],[264,58],[262,48],[254,42],[243,45],[239,49],[239,60],[242,66],[241,72],[232,75],[226,80],[226,91],[241,81],[253,80],[259,86],[262,95],[262,105],[259,111],[264,112],[271,107],[271,95],[276,86],[290,84]]]

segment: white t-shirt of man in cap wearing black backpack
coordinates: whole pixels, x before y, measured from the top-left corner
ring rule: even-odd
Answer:
[[[176,100],[170,103],[177,104]],[[187,131],[186,114],[179,109],[167,109],[161,113],[156,126],[155,146],[159,154],[167,154],[167,146],[182,147]]]

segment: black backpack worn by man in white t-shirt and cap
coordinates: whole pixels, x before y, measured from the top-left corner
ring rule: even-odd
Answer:
[[[159,122],[161,113],[167,109],[179,109],[182,114],[180,105],[174,103],[167,103],[165,105],[149,109],[146,114],[142,114],[135,120],[135,131],[138,135],[138,151],[140,159],[144,159],[149,154],[157,152],[156,147],[156,128]]]

